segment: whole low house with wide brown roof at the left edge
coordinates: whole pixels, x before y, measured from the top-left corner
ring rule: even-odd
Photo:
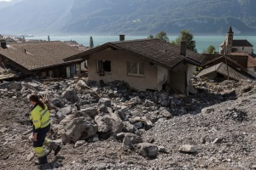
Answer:
[[[63,61],[81,51],[63,42],[0,42],[0,67],[19,76],[73,77],[81,71],[81,59]]]

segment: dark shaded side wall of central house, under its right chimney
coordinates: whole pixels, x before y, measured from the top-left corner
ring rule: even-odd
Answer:
[[[187,64],[183,64],[181,62],[177,66],[175,66],[172,70],[170,70],[170,78],[169,84],[172,88],[177,89],[179,92],[183,94],[188,94],[187,92]]]

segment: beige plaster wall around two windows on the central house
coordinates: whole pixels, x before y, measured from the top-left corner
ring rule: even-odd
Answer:
[[[105,76],[99,76],[96,68],[97,60],[110,60],[111,72],[105,73]],[[144,76],[128,76],[127,62],[144,63]],[[142,59],[132,54],[120,50],[103,50],[90,55],[88,59],[88,79],[94,81],[103,80],[112,82],[114,80],[123,80],[128,82],[131,87],[145,91],[146,89],[156,89],[157,87],[157,65],[150,64],[148,60]]]

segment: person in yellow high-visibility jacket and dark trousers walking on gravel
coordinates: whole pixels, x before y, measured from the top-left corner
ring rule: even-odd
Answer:
[[[49,111],[47,105],[44,105],[37,94],[32,94],[29,98],[30,104],[33,105],[30,121],[33,124],[33,148],[38,156],[38,163],[47,163],[47,153],[44,150],[44,145],[50,150],[55,150],[55,156],[61,150],[60,144],[56,144],[46,138],[46,133],[49,132]]]

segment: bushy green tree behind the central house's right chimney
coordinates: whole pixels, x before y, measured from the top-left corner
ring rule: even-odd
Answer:
[[[195,48],[195,41],[193,40],[193,38],[194,38],[194,35],[191,34],[189,30],[182,30],[180,31],[177,39],[175,41],[172,41],[171,43],[180,46],[180,42],[183,40],[186,40],[188,42],[187,48],[197,52],[197,49]]]

